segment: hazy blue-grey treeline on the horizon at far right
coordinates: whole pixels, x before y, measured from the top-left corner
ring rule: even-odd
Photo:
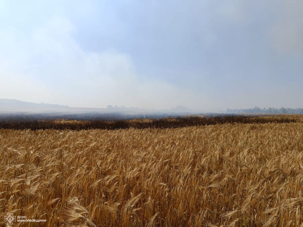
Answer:
[[[303,114],[303,108],[284,108],[281,107],[280,109],[269,107],[269,108],[263,108],[255,107],[250,109],[227,109],[226,113],[268,113],[268,114]]]

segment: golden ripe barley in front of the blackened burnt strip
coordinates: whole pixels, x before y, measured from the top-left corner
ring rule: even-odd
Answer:
[[[303,226],[303,120],[0,130],[0,226]]]

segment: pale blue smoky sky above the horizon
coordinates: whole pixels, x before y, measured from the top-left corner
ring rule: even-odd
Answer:
[[[303,107],[303,1],[0,1],[0,98]]]

